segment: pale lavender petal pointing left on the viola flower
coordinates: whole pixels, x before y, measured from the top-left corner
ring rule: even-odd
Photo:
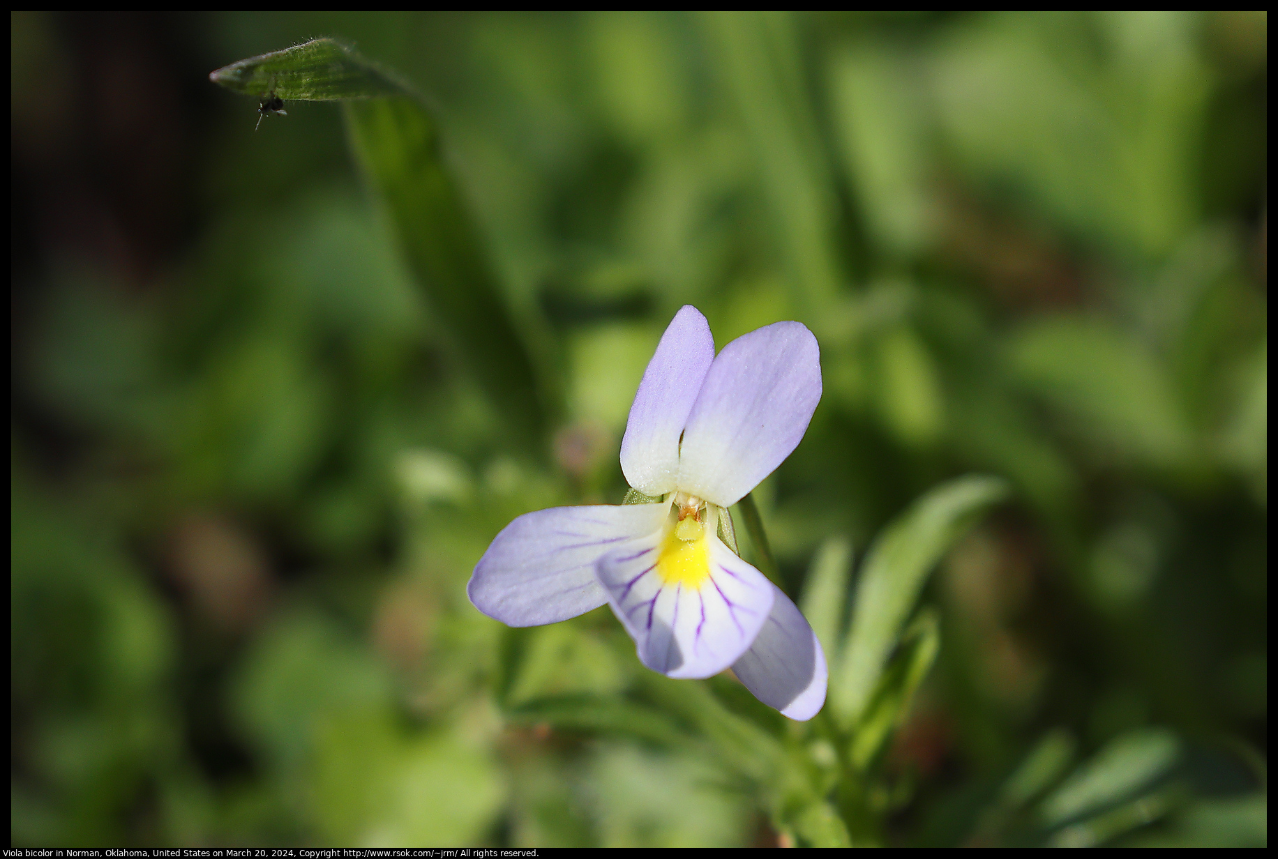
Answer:
[[[575,617],[608,600],[594,575],[599,557],[659,530],[668,511],[668,504],[631,504],[525,513],[493,538],[466,594],[475,608],[510,626]]]

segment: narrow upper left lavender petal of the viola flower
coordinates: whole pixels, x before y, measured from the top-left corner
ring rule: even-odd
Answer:
[[[679,474],[679,435],[702,380],[714,359],[705,317],[691,304],[680,308],[661,335],[643,373],[621,438],[621,472],[644,495],[674,491]]]

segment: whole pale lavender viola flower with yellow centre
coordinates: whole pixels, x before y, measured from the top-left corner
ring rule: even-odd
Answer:
[[[697,308],[679,311],[639,383],[621,470],[656,504],[552,507],[492,541],[466,591],[510,626],[607,602],[639,660],[671,677],[731,667],[794,720],[826,700],[826,657],[803,614],[718,536],[720,516],[799,445],[820,399],[817,339],[777,322],[718,355]]]

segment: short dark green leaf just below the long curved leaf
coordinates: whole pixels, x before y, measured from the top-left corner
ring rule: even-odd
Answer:
[[[924,611],[901,637],[901,648],[856,725],[852,735],[852,763],[861,770],[874,761],[892,729],[910,712],[914,693],[928,676],[941,651],[941,629],[935,611]]]

